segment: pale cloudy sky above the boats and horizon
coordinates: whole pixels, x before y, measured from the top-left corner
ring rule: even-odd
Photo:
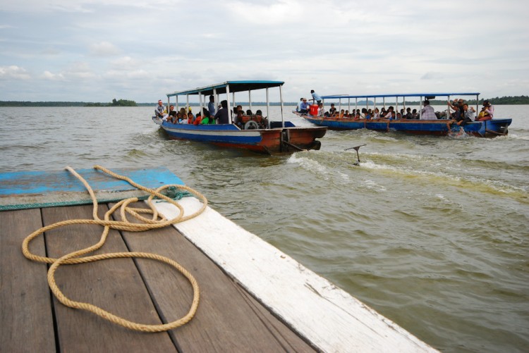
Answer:
[[[284,81],[284,101],[529,95],[523,4],[0,0],[0,101],[145,103],[226,80]]]

